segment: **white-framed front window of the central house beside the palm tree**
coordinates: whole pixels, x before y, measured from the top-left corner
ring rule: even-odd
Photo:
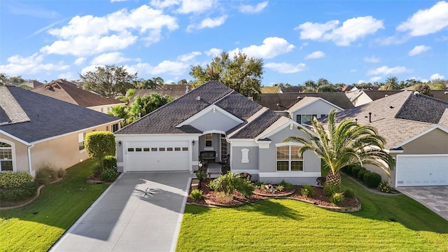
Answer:
[[[300,146],[277,146],[277,171],[303,171],[303,155]]]

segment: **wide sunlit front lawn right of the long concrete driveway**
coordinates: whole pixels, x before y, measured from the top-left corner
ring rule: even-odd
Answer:
[[[362,202],[337,213],[295,200],[236,208],[187,205],[177,251],[448,251],[448,222],[405,195],[377,195],[343,176]]]

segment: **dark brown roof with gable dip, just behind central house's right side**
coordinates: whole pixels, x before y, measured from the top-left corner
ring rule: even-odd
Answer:
[[[297,103],[300,98],[303,97],[320,97],[327,102],[335,104],[342,109],[353,108],[353,104],[349,98],[343,92],[318,92],[318,93],[271,93],[271,94],[259,94],[258,102],[262,106],[265,106],[273,111],[285,111]],[[299,98],[300,97],[300,98]]]

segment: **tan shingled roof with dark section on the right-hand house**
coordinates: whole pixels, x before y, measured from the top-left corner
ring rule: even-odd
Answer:
[[[336,120],[339,122],[343,118],[355,118],[360,124],[374,126],[379,135],[386,139],[386,148],[390,149],[435,127],[437,123],[448,128],[448,120],[442,120],[447,109],[447,102],[403,91],[338,112]],[[371,123],[369,113],[372,113]],[[326,119],[322,122],[325,124]]]

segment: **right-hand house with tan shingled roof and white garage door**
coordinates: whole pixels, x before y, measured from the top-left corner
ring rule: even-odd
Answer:
[[[354,118],[371,125],[386,139],[396,160],[391,186],[448,186],[448,102],[413,91],[388,95],[337,113],[336,121]]]

